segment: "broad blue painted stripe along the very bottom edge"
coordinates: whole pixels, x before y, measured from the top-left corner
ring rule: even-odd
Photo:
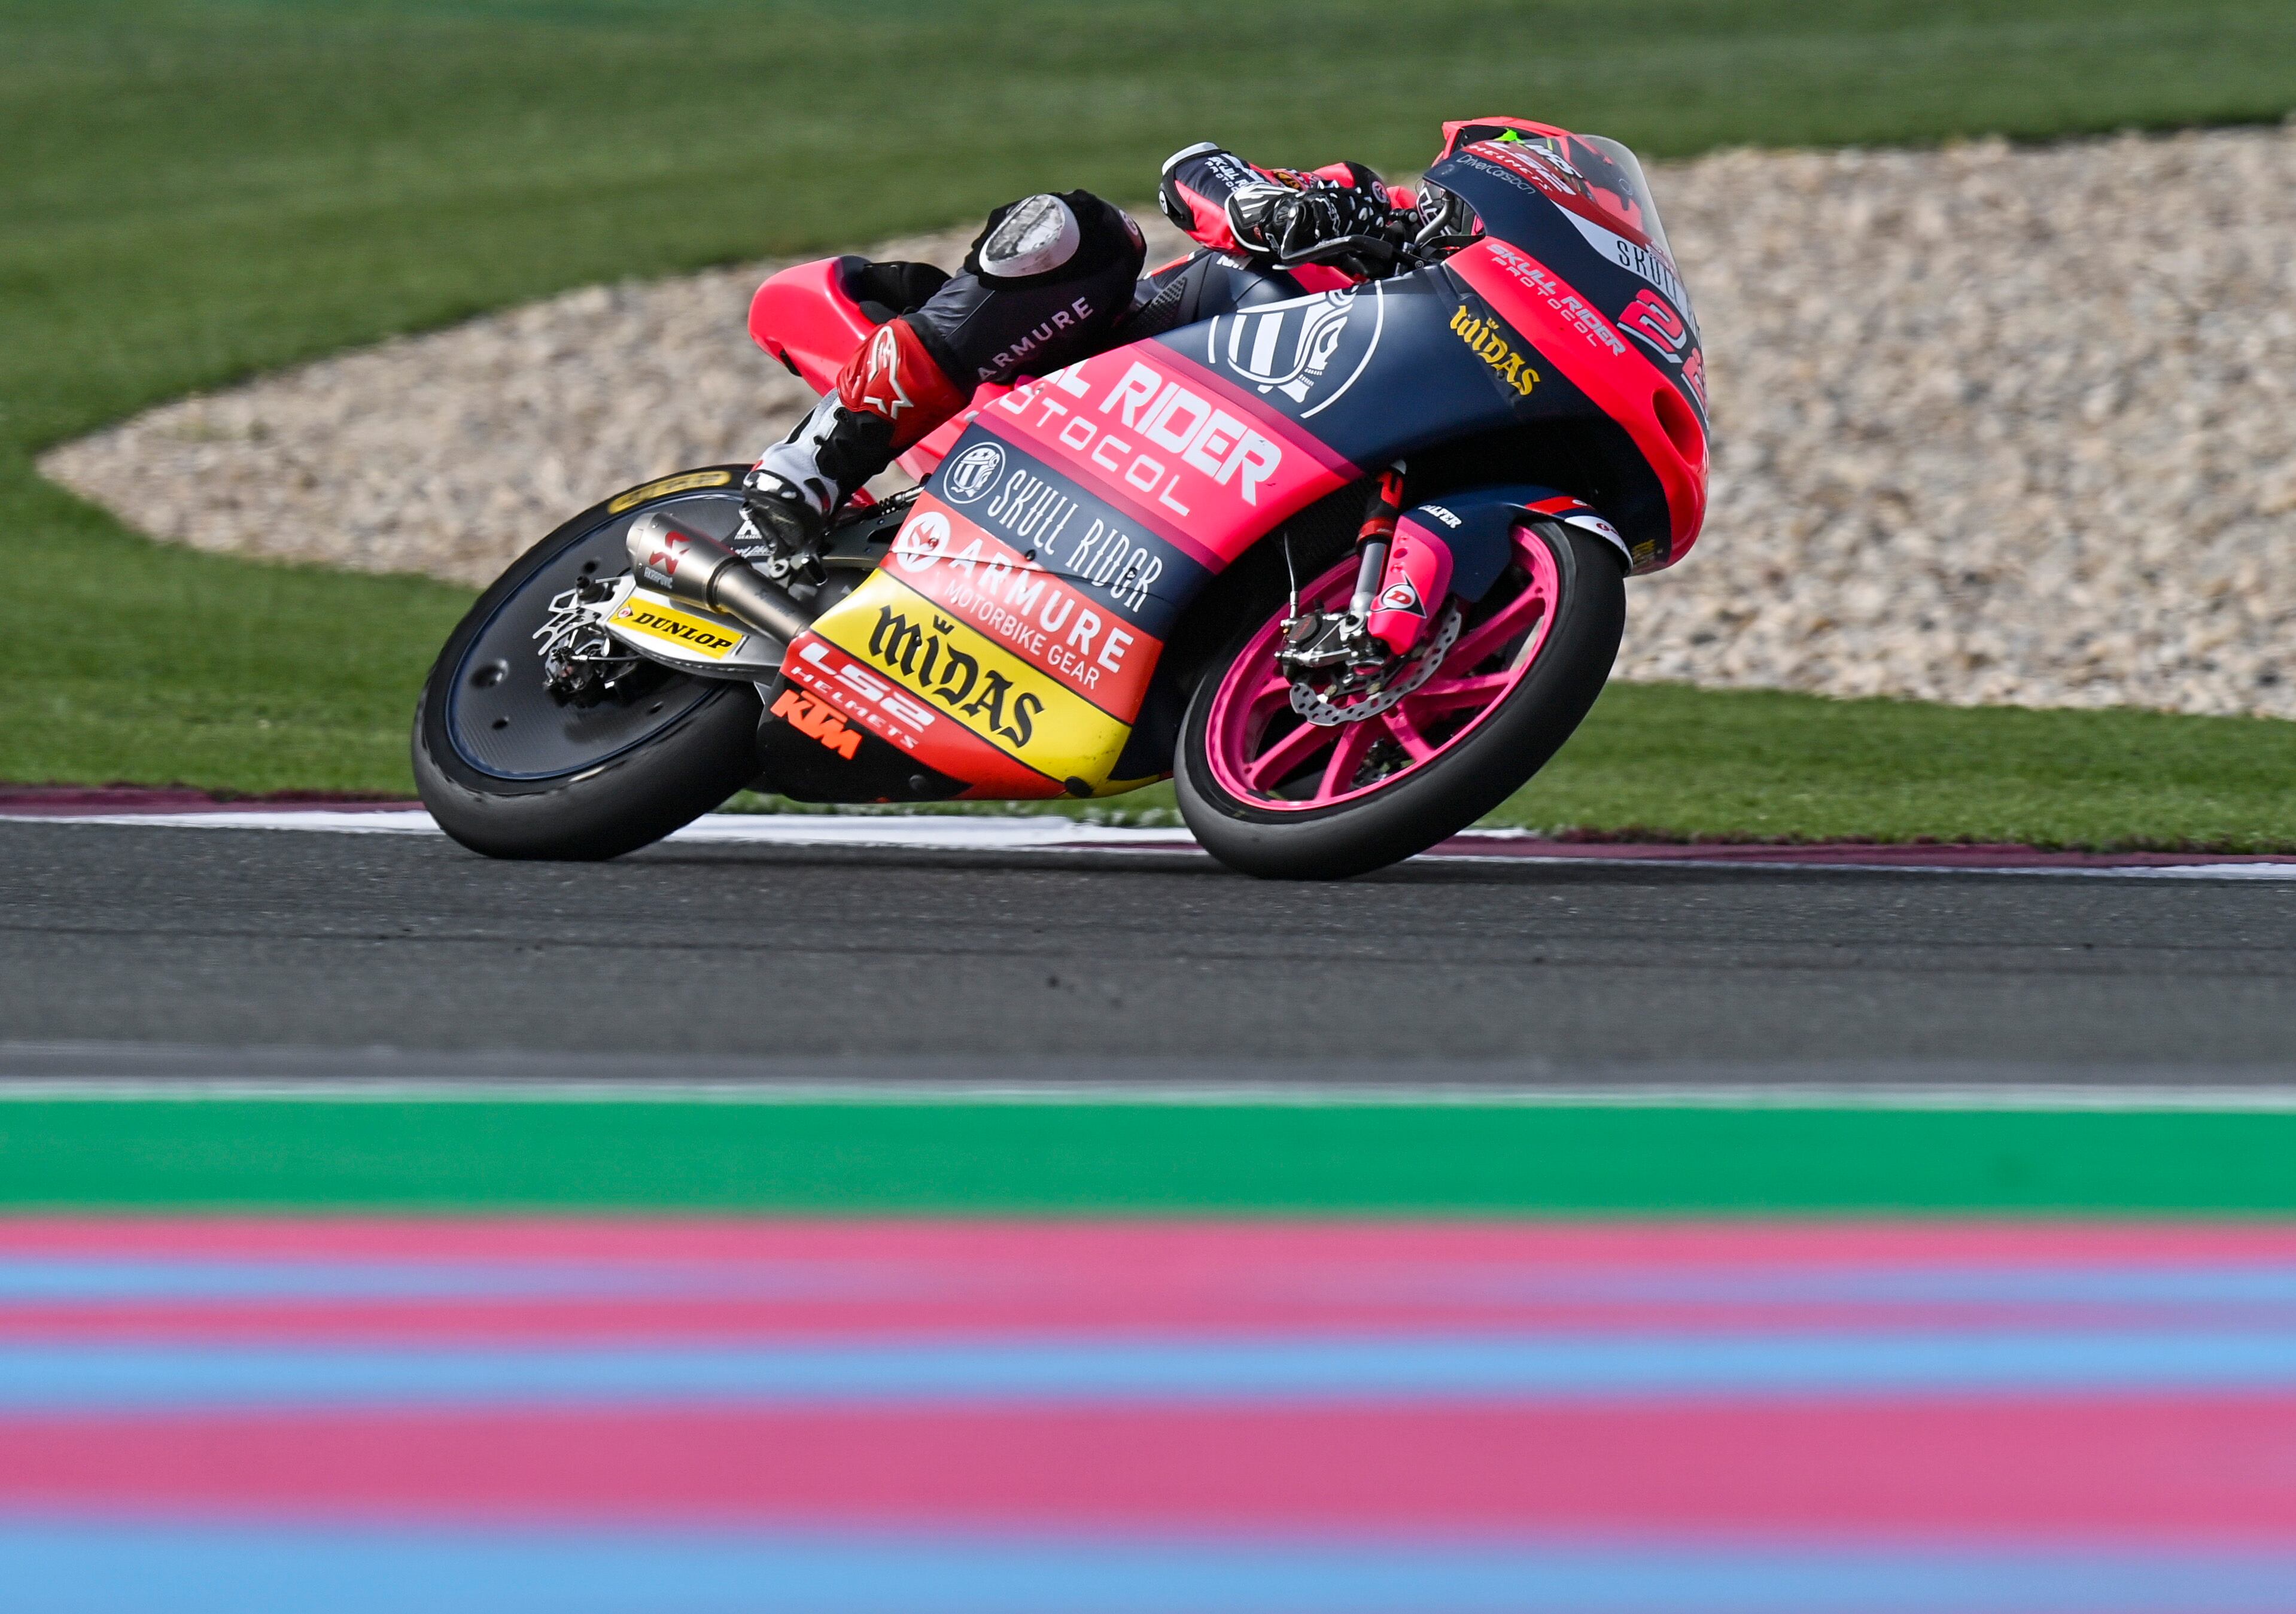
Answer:
[[[2296,1552],[0,1520],[11,1614],[2289,1614]]]

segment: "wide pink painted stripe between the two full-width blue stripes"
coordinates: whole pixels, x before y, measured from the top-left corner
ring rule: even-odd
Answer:
[[[0,1506],[2287,1541],[2296,1403],[5,1421]]]

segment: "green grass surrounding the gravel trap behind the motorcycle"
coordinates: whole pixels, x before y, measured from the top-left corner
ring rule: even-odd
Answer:
[[[39,448],[193,388],[599,278],[962,220],[1042,184],[1139,195],[1164,152],[1203,135],[1412,168],[1442,117],[1483,110],[1688,154],[2289,106],[2285,0],[11,0],[0,565],[28,608],[0,778],[409,785],[406,714],[464,592],[149,546],[32,473]],[[537,510],[535,530],[560,514]],[[1844,762],[1816,792],[1800,748],[1835,719],[1779,725],[1784,709],[1621,691],[1527,810],[1763,831],[1975,822],[1887,769]],[[1991,721],[1910,712],[1901,725]],[[1754,751],[1773,762],[1740,758],[1678,794],[1715,730],[1763,725]],[[2138,774],[2115,774],[2112,833],[2280,822],[2239,783],[2252,728],[2170,730],[2193,787],[2156,810]],[[2076,767],[2066,806],[2034,822],[2087,822],[2089,778]],[[2018,810],[2002,781],[2000,813]]]

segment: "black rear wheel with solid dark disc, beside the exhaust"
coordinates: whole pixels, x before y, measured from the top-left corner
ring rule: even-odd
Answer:
[[[755,778],[755,686],[647,668],[631,698],[558,705],[533,641],[553,595],[629,567],[625,535],[647,510],[677,505],[682,526],[730,535],[739,475],[712,466],[592,505],[480,595],[416,705],[416,790],[448,836],[501,859],[611,859]]]

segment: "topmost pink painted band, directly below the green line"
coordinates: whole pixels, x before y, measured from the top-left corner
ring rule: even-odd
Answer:
[[[2206,1295],[2161,1274],[2296,1263],[2287,1226],[1150,1226],[815,1221],[0,1219],[0,1260],[62,1263],[62,1290],[0,1290],[0,1338],[37,1341],[806,1341],[1486,1329],[2112,1327]],[[106,1288],[106,1260],[340,1267],[202,1293]],[[360,1288],[413,1263],[480,1288]],[[461,1263],[468,1263],[464,1267]],[[489,1274],[503,1272],[501,1293]],[[2018,1283],[1981,1283],[1984,1274]],[[1924,1274],[1954,1277],[1942,1290]],[[2112,1290],[2117,1274],[2135,1288]],[[2027,1277],[2060,1281],[2032,1290]],[[5,1274],[0,1274],[5,1279]],[[521,1279],[551,1279],[533,1286]],[[1855,1293],[1825,1283],[1855,1279]],[[2064,1293],[2062,1281],[2078,1293]],[[1910,1281],[1890,1290],[1892,1281]],[[1970,1288],[1975,1283],[1975,1288]],[[2149,1286],[2149,1288],[2147,1288]],[[2223,1293],[2223,1290],[2220,1290]],[[2245,1302],[2243,1302],[2245,1304]]]

